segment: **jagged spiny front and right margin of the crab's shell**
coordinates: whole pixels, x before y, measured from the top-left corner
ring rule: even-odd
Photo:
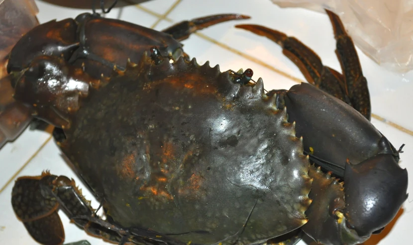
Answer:
[[[230,72],[226,71],[221,73],[219,65],[215,67],[209,66],[209,61],[202,66],[197,63],[196,58],[191,61],[187,61],[184,58],[179,58],[177,61],[170,63],[168,57],[162,57],[162,61],[159,64],[155,64],[154,60],[149,56],[149,52],[145,52],[141,60],[135,64],[130,61],[127,62],[126,70],[119,71],[115,69],[114,76],[138,76],[140,82],[154,82],[165,79],[167,77],[182,78],[180,81],[185,82],[185,77],[188,74],[198,74],[200,81],[209,82],[212,86],[217,88],[217,91],[221,93],[227,101],[237,101],[243,105],[258,105],[268,113],[277,114],[274,117],[275,125],[280,128],[280,131],[286,132],[290,135],[288,144],[291,144],[291,155],[296,155],[300,158],[302,167],[299,169],[299,174],[303,178],[303,189],[297,211],[299,216],[306,217],[305,211],[310,206],[312,200],[309,198],[310,189],[312,186],[312,179],[308,175],[310,161],[308,156],[304,155],[303,138],[296,137],[295,122],[288,122],[287,108],[278,109],[276,106],[276,95],[266,95],[264,92],[264,82],[260,78],[253,85],[241,85],[234,83],[231,80]],[[287,144],[287,143],[286,143]],[[303,225],[308,220],[303,219]]]

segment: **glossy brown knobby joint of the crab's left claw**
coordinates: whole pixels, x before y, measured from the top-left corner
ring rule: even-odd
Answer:
[[[56,127],[69,125],[69,115],[79,108],[89,85],[99,84],[82,68],[75,68],[54,56],[36,57],[21,72],[11,72],[14,98],[32,108],[33,116]]]

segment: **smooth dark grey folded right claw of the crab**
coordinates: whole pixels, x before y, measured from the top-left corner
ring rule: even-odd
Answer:
[[[344,179],[342,188],[329,174],[309,173],[320,184],[313,183],[303,230],[321,243],[357,244],[386,226],[408,196],[399,152],[360,113],[308,83],[278,99],[297,122],[305,149],[313,150],[310,160]]]

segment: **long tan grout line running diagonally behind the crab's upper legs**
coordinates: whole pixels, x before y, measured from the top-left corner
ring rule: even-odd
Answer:
[[[176,4],[174,4],[174,7],[179,3],[179,1],[181,1],[181,0],[178,0],[177,2],[175,2]],[[159,17],[158,21],[154,24],[154,26],[156,26],[156,24],[158,24],[158,22],[159,22],[160,20],[162,20],[162,19],[167,20],[168,22],[174,23],[174,21],[173,21],[172,19],[166,17],[167,13],[169,13],[169,12],[167,12],[167,13],[164,14],[164,15],[161,15],[161,14],[158,14],[158,13],[156,13],[156,12],[153,12],[152,10],[150,10],[150,9],[148,9],[148,8],[142,7],[142,6],[138,5],[138,4],[135,5],[135,6],[136,6],[137,8],[139,8],[140,10],[144,11],[144,12],[147,12],[147,13],[149,13],[149,14],[152,14],[152,15],[156,16],[156,17]],[[213,43],[213,44],[215,44],[215,45],[218,45],[219,47],[221,47],[221,48],[223,48],[223,49],[226,49],[226,50],[228,50],[228,51],[230,51],[230,52],[232,52],[232,53],[234,53],[234,54],[236,54],[236,55],[239,55],[239,56],[241,56],[241,57],[243,57],[243,58],[245,58],[245,59],[247,59],[247,60],[250,60],[250,61],[252,61],[252,62],[254,62],[254,63],[257,63],[258,65],[261,65],[261,66],[263,66],[263,67],[265,67],[265,68],[267,68],[267,69],[269,69],[269,70],[271,70],[271,71],[273,71],[273,72],[276,72],[276,73],[278,73],[278,74],[280,74],[280,75],[282,75],[282,76],[284,76],[284,77],[286,77],[286,78],[288,78],[288,79],[291,79],[291,80],[293,80],[294,82],[297,82],[297,83],[305,82],[305,81],[303,81],[303,80],[301,80],[301,79],[299,79],[299,78],[296,78],[296,77],[294,77],[294,76],[292,76],[292,75],[290,75],[290,74],[288,74],[288,73],[286,73],[286,72],[283,72],[283,71],[281,71],[281,70],[279,70],[279,69],[277,69],[277,68],[275,68],[275,67],[273,67],[273,66],[270,66],[270,65],[268,65],[267,63],[265,63],[265,62],[263,62],[263,61],[255,58],[255,57],[252,57],[252,56],[250,56],[250,55],[248,55],[248,54],[245,54],[245,53],[243,53],[243,52],[241,52],[241,51],[239,51],[239,50],[237,50],[237,49],[231,48],[231,47],[229,47],[229,46],[226,45],[226,44],[223,44],[223,43],[221,43],[221,42],[218,42],[218,41],[216,41],[215,39],[206,36],[205,34],[196,32],[195,35],[197,35],[197,36],[201,37],[202,39],[204,39],[204,40],[206,40],[206,41],[209,41],[209,42],[211,42],[211,43]],[[385,119],[384,117],[381,117],[381,116],[376,115],[376,114],[374,114],[374,113],[371,114],[371,117],[372,117],[372,118],[375,118],[375,119],[377,119],[377,120],[379,120],[379,121],[381,121],[381,122],[383,122],[383,123],[385,123],[385,124],[387,124],[387,125],[390,125],[390,126],[396,128],[396,129],[398,129],[398,130],[400,130],[400,131],[402,131],[402,132],[404,132],[404,133],[406,133],[406,134],[409,134],[409,135],[413,136],[413,131],[412,131],[412,130],[407,129],[407,128],[405,128],[405,127],[403,127],[403,126],[401,126],[401,125],[399,125],[399,124],[397,124],[397,123],[394,123],[394,122],[392,122],[392,121],[389,121],[389,120]]]

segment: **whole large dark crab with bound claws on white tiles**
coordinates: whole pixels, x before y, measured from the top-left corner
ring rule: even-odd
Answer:
[[[119,244],[262,244],[283,235],[293,244],[300,229],[323,244],[367,240],[406,200],[407,171],[369,122],[354,46],[328,14],[343,75],[294,38],[238,26],[282,44],[313,84],[267,93],[250,70],[199,66],[179,44],[240,15],[163,32],[90,14],[36,27],[10,54],[15,98],[56,127],[107,218],[73,181],[49,172],[18,178],[17,217],[51,245],[64,240],[58,208]]]

